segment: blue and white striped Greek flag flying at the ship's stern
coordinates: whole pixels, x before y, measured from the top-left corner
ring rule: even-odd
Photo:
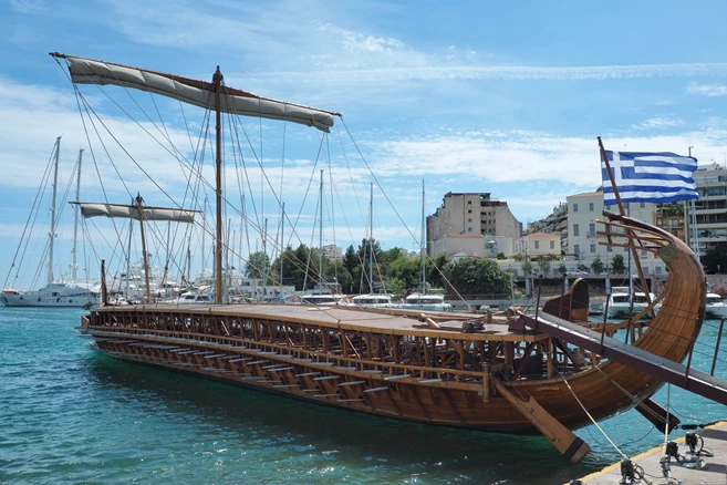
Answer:
[[[606,152],[613,182],[624,203],[669,203],[699,198],[694,171],[697,159],[675,153]],[[616,204],[609,172],[601,161],[603,204]]]

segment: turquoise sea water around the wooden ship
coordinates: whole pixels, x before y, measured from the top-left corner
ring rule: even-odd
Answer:
[[[403,423],[116,361],[74,331],[82,310],[0,308],[0,483],[562,484],[621,458],[596,426],[571,465],[540,436]],[[709,371],[718,321],[694,367]],[[727,376],[727,337],[716,374]],[[672,388],[683,423],[727,406]],[[667,389],[655,399],[666,405]],[[633,456],[664,436],[635,411],[601,423]],[[672,437],[682,436],[677,430]]]

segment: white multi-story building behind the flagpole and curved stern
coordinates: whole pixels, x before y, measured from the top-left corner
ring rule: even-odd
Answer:
[[[603,193],[589,192],[575,194],[568,197],[568,252],[567,259],[578,260],[580,264],[591,266],[596,256],[604,266],[610,266],[614,255],[621,254],[625,261],[629,260],[629,248],[604,246],[600,242],[603,238],[598,233],[604,230],[599,220],[603,220]],[[647,224],[654,224],[656,207],[650,203],[624,204],[626,214],[635,219]],[[610,208],[616,211],[616,206]],[[652,252],[641,250],[638,252],[645,275],[664,275],[664,262]]]

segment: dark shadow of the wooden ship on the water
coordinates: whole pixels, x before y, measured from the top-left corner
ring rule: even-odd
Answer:
[[[111,399],[111,407],[162,413],[177,430],[184,424],[194,426],[197,433],[201,430],[225,440],[226,446],[236,442],[242,453],[248,447],[263,447],[271,462],[291,453],[312,454],[330,461],[331,466],[420,474],[424,483],[568,483],[606,465],[572,465],[542,436],[407,423],[131,364],[100,353],[87,359],[87,372],[93,392]],[[511,481],[512,476],[517,479]]]

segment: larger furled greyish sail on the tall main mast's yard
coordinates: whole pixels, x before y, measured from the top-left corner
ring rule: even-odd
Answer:
[[[76,84],[112,84],[133,87],[169,96],[207,110],[215,109],[215,84],[207,81],[60,53],[51,53],[51,55],[66,60],[71,80]],[[224,113],[315,126],[323,132],[329,132],[329,128],[333,126],[333,117],[340,116],[339,113],[261,97],[225,85],[220,92],[219,109]]]

